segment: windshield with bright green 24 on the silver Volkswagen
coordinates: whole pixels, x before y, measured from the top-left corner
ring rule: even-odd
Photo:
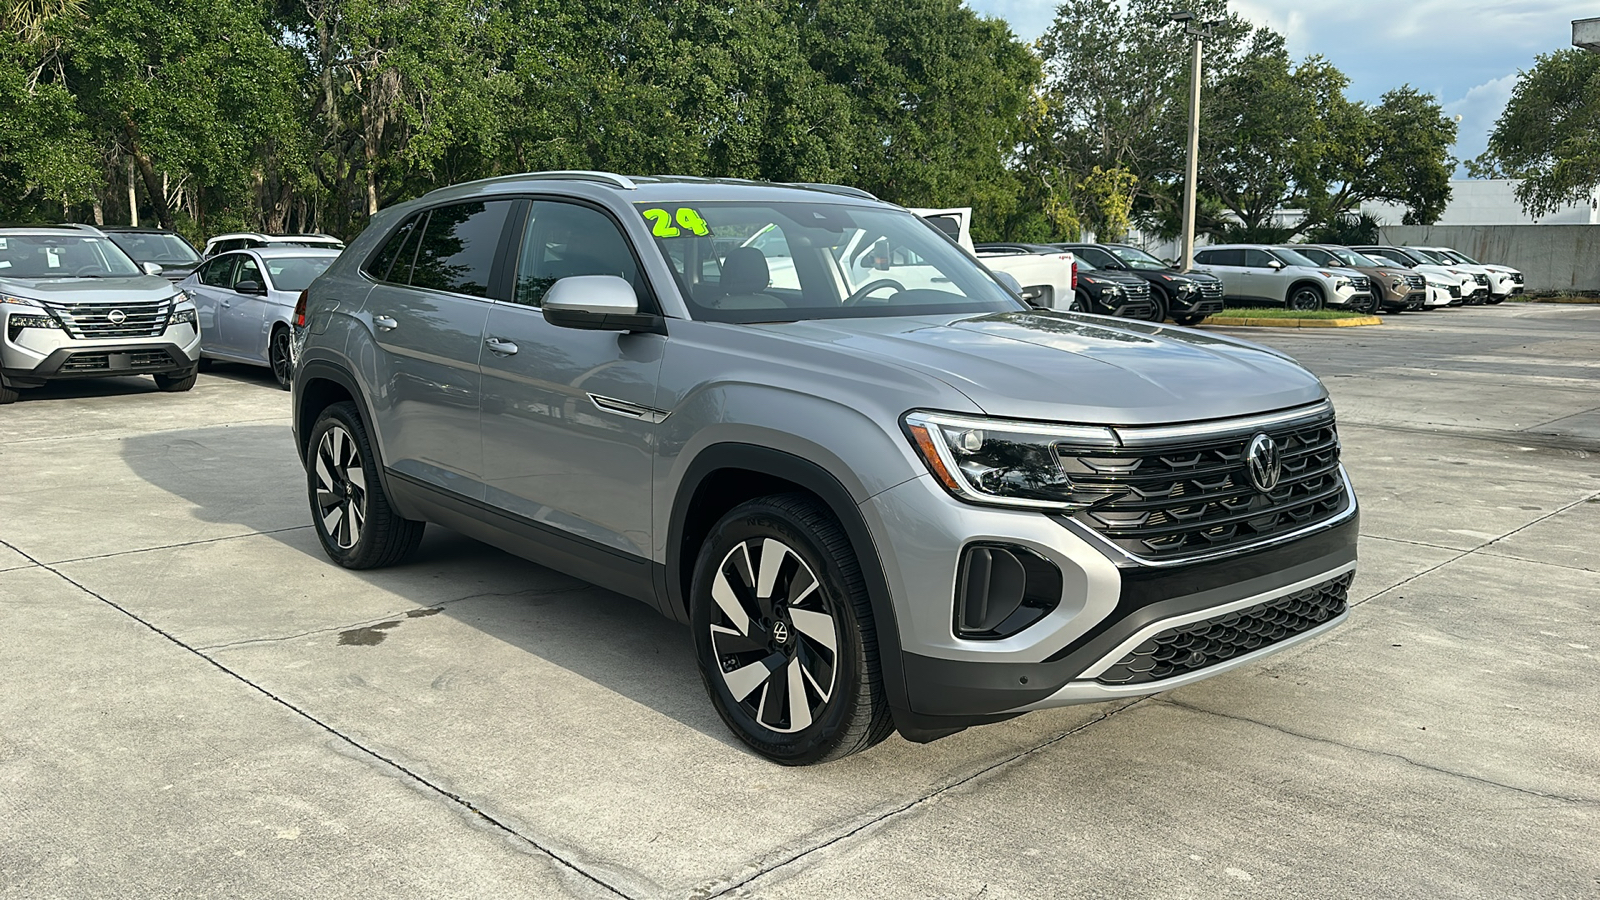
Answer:
[[[696,319],[795,322],[1026,309],[910,213],[834,203],[650,203]]]

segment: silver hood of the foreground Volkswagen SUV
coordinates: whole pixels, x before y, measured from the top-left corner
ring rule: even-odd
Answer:
[[[1032,311],[752,327],[930,375],[1002,418],[1166,424],[1328,396],[1315,375],[1277,351],[1101,315]]]

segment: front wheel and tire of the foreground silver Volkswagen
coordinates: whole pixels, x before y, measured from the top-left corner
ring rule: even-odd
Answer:
[[[781,565],[768,554],[781,554]],[[763,562],[773,567],[766,597],[758,596]],[[725,605],[730,597],[736,609]],[[734,618],[741,613],[744,621]],[[694,564],[690,623],[712,706],[773,762],[840,759],[894,730],[861,565],[838,520],[813,496],[750,500],[717,522]],[[790,703],[792,685],[805,709]]]

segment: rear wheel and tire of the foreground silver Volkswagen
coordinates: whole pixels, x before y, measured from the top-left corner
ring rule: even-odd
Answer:
[[[394,511],[378,469],[378,453],[355,404],[322,410],[310,429],[306,493],[323,552],[346,569],[395,565],[422,543],[427,524]]]

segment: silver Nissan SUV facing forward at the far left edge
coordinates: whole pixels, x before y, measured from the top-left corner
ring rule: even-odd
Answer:
[[[200,325],[162,267],[86,226],[0,227],[0,404],[62,378],[154,375],[194,388]]]

